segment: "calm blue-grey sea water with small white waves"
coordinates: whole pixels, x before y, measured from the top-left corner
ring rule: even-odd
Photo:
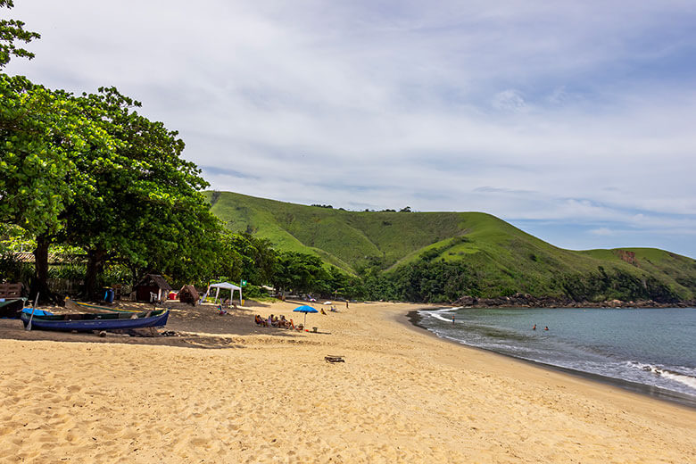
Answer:
[[[462,344],[615,379],[617,385],[644,385],[646,393],[667,390],[696,402],[696,309],[444,309],[418,314],[418,325]]]

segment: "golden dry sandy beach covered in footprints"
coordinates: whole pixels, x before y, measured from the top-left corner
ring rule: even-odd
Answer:
[[[152,338],[0,320],[0,463],[696,462],[696,410],[443,342],[423,305],[253,323],[295,306],[179,306]]]

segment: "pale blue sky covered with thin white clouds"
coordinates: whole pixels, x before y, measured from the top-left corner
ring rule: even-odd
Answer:
[[[11,74],[116,86],[211,187],[696,257],[696,2],[15,0]]]

